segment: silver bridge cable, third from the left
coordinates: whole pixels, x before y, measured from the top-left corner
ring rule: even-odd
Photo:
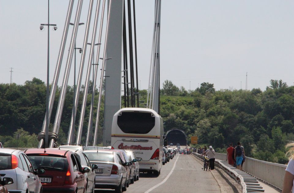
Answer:
[[[78,78],[77,78],[77,89],[76,89],[77,92],[74,93],[75,94],[74,108],[73,108],[73,112],[72,112],[72,116],[71,116],[71,120],[70,120],[70,127],[69,127],[69,132],[68,132],[68,137],[67,137],[68,144],[73,143],[73,141],[74,141],[74,128],[75,128],[74,123],[75,123],[76,115],[77,115],[77,104],[78,104],[79,96],[80,96],[81,81],[82,81],[82,75],[83,75],[83,70],[84,70],[87,42],[88,42],[88,37],[89,37],[89,28],[90,28],[91,17],[92,17],[92,9],[93,9],[93,0],[90,0],[86,29],[85,29],[85,37],[84,37],[84,42],[83,42],[83,50],[82,50],[83,52],[81,55],[79,74],[78,74]]]

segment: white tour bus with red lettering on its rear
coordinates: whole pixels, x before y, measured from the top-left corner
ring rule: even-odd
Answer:
[[[115,113],[111,146],[132,150],[140,161],[140,172],[160,174],[164,131],[160,115],[149,108],[122,108]]]

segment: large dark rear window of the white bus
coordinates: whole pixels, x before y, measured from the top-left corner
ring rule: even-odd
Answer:
[[[147,134],[155,126],[155,117],[148,112],[122,112],[117,125],[124,133]]]

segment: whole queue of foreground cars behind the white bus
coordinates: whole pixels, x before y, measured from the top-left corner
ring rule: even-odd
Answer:
[[[139,161],[132,151],[111,147],[1,148],[0,174],[5,177],[0,178],[0,193],[123,192],[139,180]]]

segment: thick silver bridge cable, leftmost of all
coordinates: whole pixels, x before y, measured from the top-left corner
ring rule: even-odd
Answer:
[[[52,85],[51,85],[51,90],[50,90],[49,104],[48,104],[49,113],[46,112],[46,114],[48,113],[48,117],[49,117],[48,122],[49,123],[50,123],[51,112],[52,112],[53,103],[54,103],[54,99],[55,99],[55,93],[56,93],[56,89],[57,89],[57,83],[58,83],[64,48],[65,48],[65,44],[66,44],[68,28],[70,25],[70,17],[71,17],[71,13],[73,11],[73,5],[74,5],[74,0],[70,0],[69,5],[68,5],[68,9],[67,9],[65,23],[64,23],[64,29],[63,29],[63,33],[62,33],[61,44],[60,44],[60,48],[59,48],[59,54],[58,54],[58,58],[57,58],[55,73],[54,73],[54,77],[53,77],[53,81],[52,81]],[[42,130],[41,130],[42,132],[45,132],[46,125],[47,124],[49,125],[49,123],[46,122],[46,116],[47,115],[45,115],[45,118],[43,121],[43,126],[42,126]],[[42,148],[43,145],[44,145],[44,139],[40,139],[38,148]]]

